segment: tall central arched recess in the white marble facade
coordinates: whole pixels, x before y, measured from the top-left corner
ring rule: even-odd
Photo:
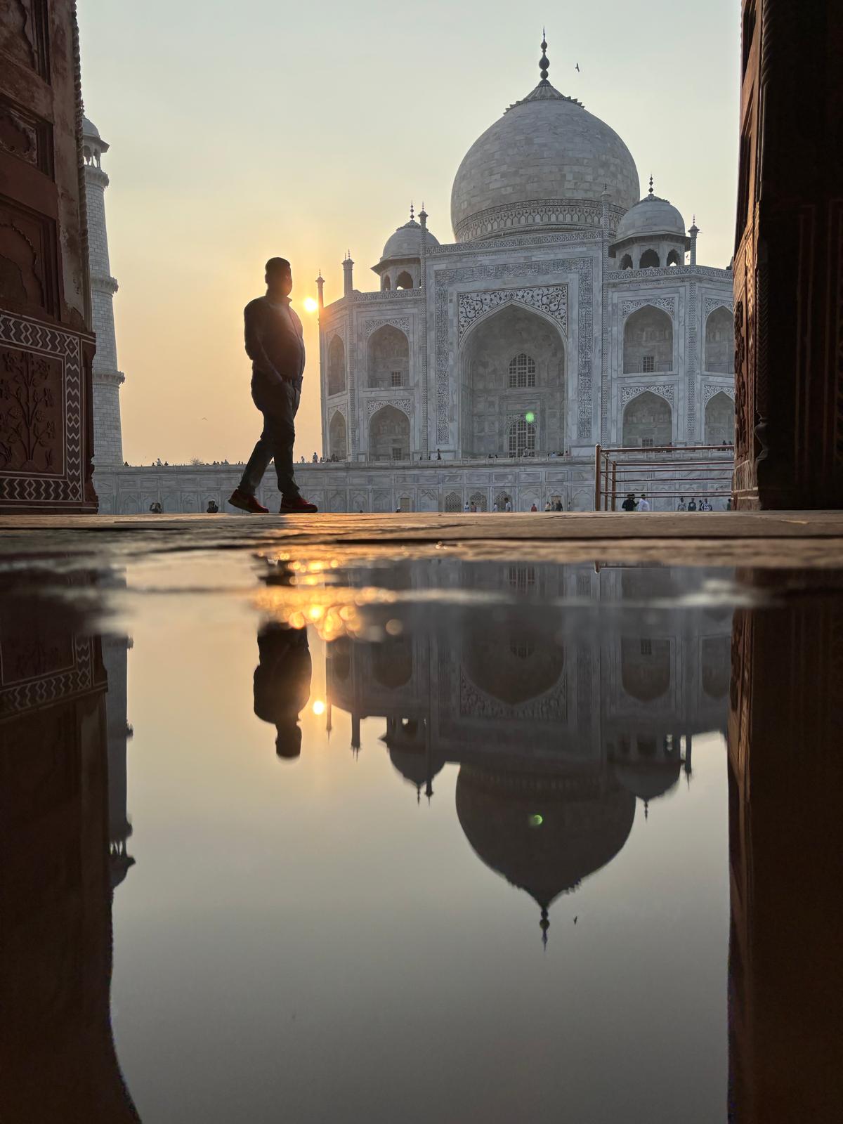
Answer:
[[[537,451],[565,448],[565,346],[556,325],[523,305],[483,317],[460,354],[463,455],[509,455],[515,418],[535,415]]]

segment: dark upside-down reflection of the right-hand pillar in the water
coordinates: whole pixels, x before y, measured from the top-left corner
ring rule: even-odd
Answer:
[[[738,610],[728,720],[729,1120],[836,1121],[843,1103],[843,574]],[[747,578],[755,586],[764,577]],[[803,579],[799,579],[800,581]],[[836,599],[824,596],[836,588]],[[781,592],[781,575],[773,575]]]

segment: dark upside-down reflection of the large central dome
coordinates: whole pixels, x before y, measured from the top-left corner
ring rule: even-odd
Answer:
[[[456,814],[487,867],[547,909],[620,851],[635,799],[593,773],[493,772],[463,764]]]

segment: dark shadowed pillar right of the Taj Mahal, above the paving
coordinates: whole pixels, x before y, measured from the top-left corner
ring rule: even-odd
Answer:
[[[843,506],[843,6],[743,0],[738,508]]]

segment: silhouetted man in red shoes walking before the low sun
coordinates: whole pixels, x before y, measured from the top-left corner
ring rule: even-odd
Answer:
[[[246,354],[252,360],[252,400],[263,414],[263,433],[228,502],[253,515],[266,514],[255,499],[270,461],[275,462],[280,513],[316,511],[296,483],[292,446],[294,418],[301,400],[305,341],[301,320],[290,308],[292,269],[285,257],[266,262],[266,296],[244,310]]]

